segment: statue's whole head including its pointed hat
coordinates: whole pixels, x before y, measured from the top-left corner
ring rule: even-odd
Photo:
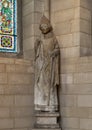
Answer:
[[[39,29],[42,31],[43,34],[47,34],[52,31],[50,21],[44,15],[41,18]]]

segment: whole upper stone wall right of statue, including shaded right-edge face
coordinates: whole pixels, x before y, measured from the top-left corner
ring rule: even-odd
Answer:
[[[91,6],[91,0],[52,0],[52,24],[62,57],[92,55]]]

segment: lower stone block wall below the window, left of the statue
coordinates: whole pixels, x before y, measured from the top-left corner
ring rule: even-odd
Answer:
[[[33,123],[32,63],[0,58],[0,130],[29,130]]]

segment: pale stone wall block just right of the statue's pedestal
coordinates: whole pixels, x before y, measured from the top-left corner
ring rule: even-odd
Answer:
[[[79,128],[79,118],[63,118],[62,119],[63,128]]]

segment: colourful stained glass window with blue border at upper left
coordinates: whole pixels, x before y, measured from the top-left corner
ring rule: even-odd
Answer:
[[[17,52],[17,0],[0,0],[0,52]]]

